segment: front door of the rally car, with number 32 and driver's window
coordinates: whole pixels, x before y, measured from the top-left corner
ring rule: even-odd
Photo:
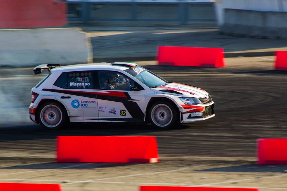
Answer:
[[[111,74],[115,75],[111,76]],[[119,72],[98,71],[98,77],[99,121],[144,121],[145,90],[143,88]],[[104,86],[104,82],[111,86],[117,84],[117,87]],[[131,87],[135,86],[137,89],[131,90]]]

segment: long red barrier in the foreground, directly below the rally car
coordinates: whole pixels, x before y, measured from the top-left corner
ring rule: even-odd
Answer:
[[[57,162],[158,162],[156,137],[58,136]]]

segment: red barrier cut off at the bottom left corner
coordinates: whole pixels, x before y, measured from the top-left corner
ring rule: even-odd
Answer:
[[[1,191],[61,191],[60,184],[32,184],[0,182]]]

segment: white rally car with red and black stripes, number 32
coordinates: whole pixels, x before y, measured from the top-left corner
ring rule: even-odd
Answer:
[[[69,122],[145,122],[164,129],[214,117],[205,90],[167,82],[129,62],[60,66],[32,88],[30,119],[46,129]]]

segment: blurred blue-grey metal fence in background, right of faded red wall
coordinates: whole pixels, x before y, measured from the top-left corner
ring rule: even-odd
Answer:
[[[69,21],[216,21],[213,3],[67,2]]]

